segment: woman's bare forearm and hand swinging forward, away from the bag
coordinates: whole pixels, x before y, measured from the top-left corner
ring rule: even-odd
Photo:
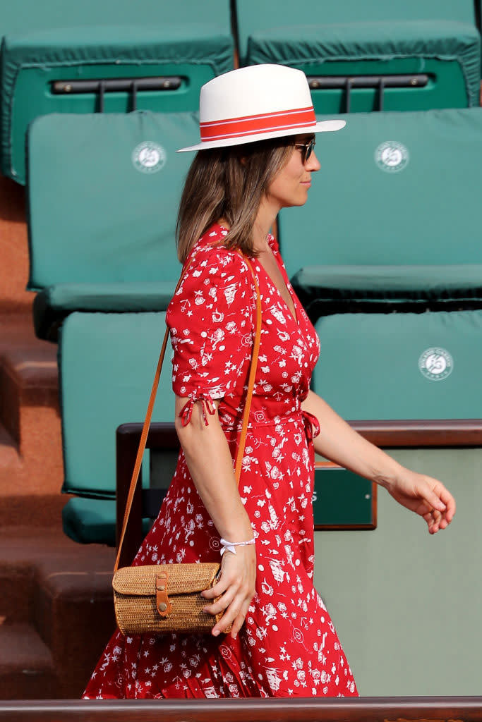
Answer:
[[[431,534],[452,521],[455,500],[442,482],[405,469],[353,430],[314,391],[309,391],[302,407],[317,417],[321,427],[314,439],[317,453],[381,484],[397,502],[422,516]]]

